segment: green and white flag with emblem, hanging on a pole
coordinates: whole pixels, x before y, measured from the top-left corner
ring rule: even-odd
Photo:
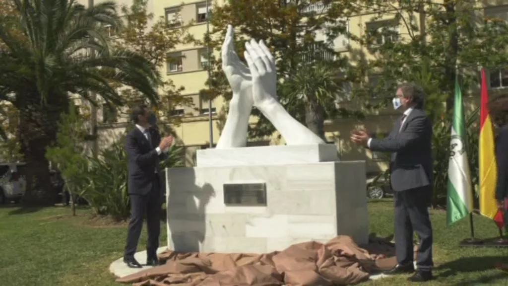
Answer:
[[[455,105],[451,137],[451,154],[448,163],[447,224],[450,225],[473,209],[471,175],[466,153],[466,126],[464,104],[459,80],[455,79]]]

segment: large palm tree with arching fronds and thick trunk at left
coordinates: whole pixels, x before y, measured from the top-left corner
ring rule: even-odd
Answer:
[[[57,122],[69,110],[71,95],[97,104],[121,105],[113,84],[157,100],[156,69],[136,53],[113,49],[104,27],[121,25],[114,2],[85,8],[75,0],[7,0],[13,12],[0,15],[0,101],[20,114],[19,140],[24,154],[26,205],[51,205],[46,148],[56,138]]]

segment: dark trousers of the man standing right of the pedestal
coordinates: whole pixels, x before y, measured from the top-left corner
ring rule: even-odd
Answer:
[[[431,270],[432,225],[427,209],[430,188],[416,188],[395,192],[395,252],[397,263],[407,265],[414,261],[413,232],[420,238],[417,254],[419,270]]]

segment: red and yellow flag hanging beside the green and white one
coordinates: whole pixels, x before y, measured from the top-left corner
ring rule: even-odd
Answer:
[[[482,109],[480,112],[480,213],[494,219],[498,212],[496,203],[496,157],[494,152],[494,129],[488,108],[489,94],[485,71],[482,69]]]

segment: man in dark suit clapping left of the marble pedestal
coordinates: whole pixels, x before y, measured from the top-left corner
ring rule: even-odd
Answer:
[[[129,158],[129,197],[131,221],[123,262],[131,268],[141,268],[134,258],[138,246],[143,216],[146,214],[148,241],[147,265],[158,265],[157,248],[161,233],[160,214],[162,203],[161,170],[159,161],[173,142],[171,136],[161,139],[158,131],[150,126],[153,113],[147,106],[139,105],[132,110],[136,127],[125,137],[125,151]]]

